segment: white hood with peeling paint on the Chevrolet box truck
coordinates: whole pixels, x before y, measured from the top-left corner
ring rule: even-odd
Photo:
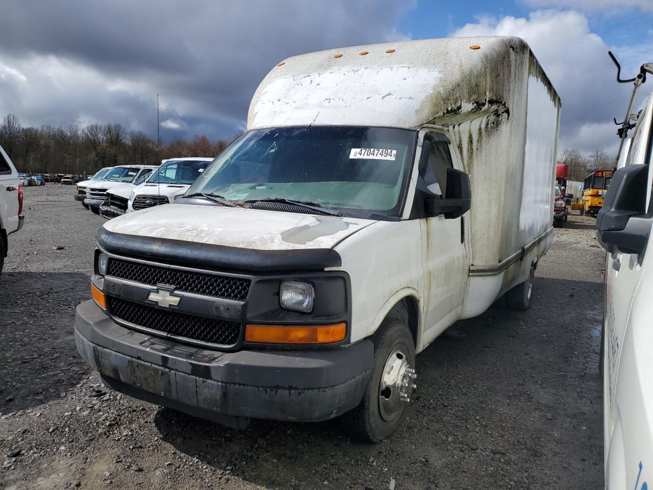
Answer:
[[[374,222],[225,206],[164,204],[119,216],[103,226],[114,233],[139,237],[256,250],[291,250],[332,248]]]

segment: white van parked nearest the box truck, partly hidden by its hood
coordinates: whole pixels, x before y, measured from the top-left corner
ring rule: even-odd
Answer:
[[[161,167],[153,172],[144,186],[134,189],[129,195],[127,212],[172,203],[181,197],[195,182],[212,158],[187,157],[170,158],[161,161]]]

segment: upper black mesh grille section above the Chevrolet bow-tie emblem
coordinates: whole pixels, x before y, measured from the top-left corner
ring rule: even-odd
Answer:
[[[236,301],[246,301],[251,286],[249,279],[171,269],[113,257],[109,259],[106,275],[150,286],[167,284],[178,291]]]

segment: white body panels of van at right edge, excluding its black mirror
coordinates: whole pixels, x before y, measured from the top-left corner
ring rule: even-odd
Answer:
[[[651,208],[650,145],[653,95],[620,155],[618,169],[648,165],[646,200]],[[613,179],[614,182],[614,179]],[[608,190],[613,191],[614,184]],[[605,203],[604,203],[605,208]],[[602,208],[603,210],[603,208]],[[599,212],[599,218],[601,212]],[[648,225],[649,228],[652,225]],[[603,413],[605,487],[643,489],[653,482],[653,250],[607,253],[603,317]]]

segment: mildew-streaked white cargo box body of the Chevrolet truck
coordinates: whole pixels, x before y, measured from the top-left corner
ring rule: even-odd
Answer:
[[[550,246],[560,105],[522,39],[427,39],[285,59],[256,91],[247,129],[445,127],[470,174],[470,276],[490,276]],[[523,274],[512,269],[497,294]]]

